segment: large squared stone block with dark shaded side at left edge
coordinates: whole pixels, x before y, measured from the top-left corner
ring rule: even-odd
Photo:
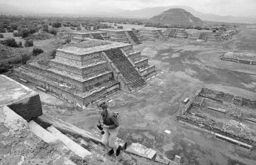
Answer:
[[[34,90],[0,75],[0,106],[6,105],[29,121],[42,115],[40,96]]]

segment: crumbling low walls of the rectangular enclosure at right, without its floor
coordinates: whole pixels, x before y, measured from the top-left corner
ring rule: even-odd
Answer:
[[[207,118],[204,115],[191,113],[189,110],[192,108],[192,106],[197,106],[200,108],[202,108],[202,106],[205,106],[204,99],[199,99],[198,97],[205,97],[218,102],[227,101],[239,106],[246,106],[252,109],[256,108],[256,100],[248,99],[241,96],[234,96],[233,94],[228,94],[225,92],[220,92],[212,89],[202,88],[196,91],[196,94],[189,100],[186,106],[184,106],[184,108],[182,108],[182,110],[179,111],[179,114],[176,117],[176,119],[179,122],[215,134],[214,137],[219,138],[221,140],[228,141],[240,147],[244,147],[248,150],[251,150],[251,148],[256,147],[255,139],[250,138],[249,136],[242,133],[234,133],[233,131],[220,128],[215,125],[216,123],[213,118]],[[192,115],[188,116],[188,113]],[[242,114],[242,111],[240,111],[239,114],[234,113],[234,111],[228,111],[227,113],[228,117],[237,118],[239,120],[243,120],[244,116]],[[196,118],[194,116],[197,116],[199,118]]]

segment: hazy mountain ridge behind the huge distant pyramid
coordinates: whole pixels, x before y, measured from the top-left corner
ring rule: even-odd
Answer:
[[[235,16],[221,16],[221,15],[214,15],[210,13],[202,13],[200,11],[196,11],[193,8],[189,6],[180,6],[180,5],[175,5],[175,6],[158,6],[155,8],[143,8],[141,10],[124,10],[120,13],[116,13],[116,16],[118,15],[119,17],[140,17],[140,18],[151,18],[154,17],[154,15],[159,15],[163,11],[169,10],[171,8],[182,8],[195,17],[198,17],[202,20],[208,20],[208,21],[213,21],[213,22],[237,22],[237,23],[256,23],[256,18],[255,17],[235,17]]]

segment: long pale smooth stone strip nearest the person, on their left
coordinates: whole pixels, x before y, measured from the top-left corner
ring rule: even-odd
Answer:
[[[78,145],[76,142],[70,140],[65,134],[62,134],[58,129],[54,128],[53,126],[47,127],[47,131],[51,133],[53,136],[61,140],[70,150],[72,150],[76,155],[82,158],[92,156],[92,153],[88,150]]]

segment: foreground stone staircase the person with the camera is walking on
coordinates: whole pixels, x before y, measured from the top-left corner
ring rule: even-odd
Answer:
[[[175,160],[171,161],[163,155],[157,154],[152,148],[147,148],[140,143],[132,143],[127,147],[127,143],[120,138],[116,140],[122,147],[120,155],[106,155],[108,151],[101,143],[102,135],[98,129],[93,128],[89,131],[84,131],[61,120],[56,120],[45,123],[44,117],[40,117],[40,119],[36,118],[36,122],[31,120],[28,123],[29,129],[46,143],[57,143],[60,146],[60,151],[65,150],[68,153],[68,150],[70,150],[70,154],[65,155],[67,160],[72,161],[73,164],[70,163],[72,165],[180,164],[180,157],[177,155],[175,156]],[[65,127],[63,127],[63,123]]]

